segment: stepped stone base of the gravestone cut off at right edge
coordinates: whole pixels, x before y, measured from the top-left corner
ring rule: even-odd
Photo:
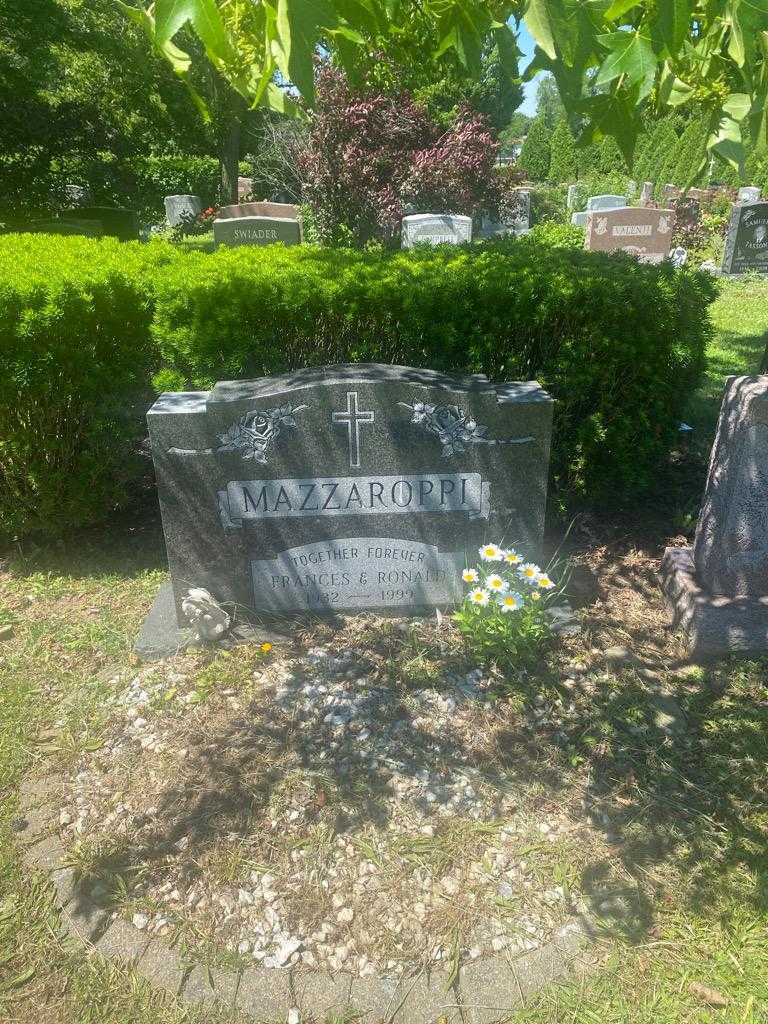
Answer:
[[[662,589],[675,625],[688,634],[694,660],[768,651],[768,596],[730,598],[708,593],[696,580],[691,548],[667,548]]]

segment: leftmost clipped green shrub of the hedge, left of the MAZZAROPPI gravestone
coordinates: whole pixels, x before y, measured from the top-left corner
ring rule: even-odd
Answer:
[[[112,239],[0,240],[0,536],[103,518],[146,471],[136,442],[151,283],[173,255]]]

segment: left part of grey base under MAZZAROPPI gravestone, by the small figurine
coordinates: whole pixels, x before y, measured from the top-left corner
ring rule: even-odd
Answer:
[[[187,647],[233,647],[241,643],[285,643],[290,637],[288,628],[267,629],[238,623],[232,629],[212,644],[202,644],[190,629],[184,629],[176,620],[176,604],[173,586],[166,580],[158,591],[146,618],[141,624],[133,653],[142,662],[158,662],[163,657],[180,654]]]

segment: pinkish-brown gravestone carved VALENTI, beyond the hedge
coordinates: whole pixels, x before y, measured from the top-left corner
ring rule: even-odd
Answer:
[[[587,218],[585,247],[594,252],[622,250],[641,263],[660,263],[669,255],[674,226],[673,210],[595,210]]]

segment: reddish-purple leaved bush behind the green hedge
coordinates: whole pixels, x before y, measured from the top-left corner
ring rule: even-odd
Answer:
[[[300,171],[322,238],[342,229],[359,245],[391,239],[409,212],[497,208],[498,144],[483,115],[464,109],[445,131],[408,93],[354,92],[328,65],[316,88]]]

